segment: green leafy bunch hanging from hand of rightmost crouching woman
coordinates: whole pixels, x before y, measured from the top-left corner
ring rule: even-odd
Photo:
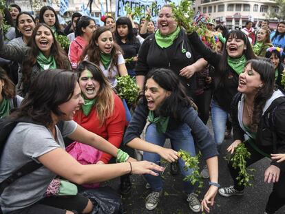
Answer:
[[[251,158],[251,153],[247,151],[246,147],[244,146],[244,142],[242,142],[240,145],[235,147],[235,153],[230,158],[230,161],[233,163],[234,169],[239,169],[239,173],[237,175],[238,184],[244,186],[253,186],[251,181],[254,180],[254,175],[251,173],[254,172],[255,169],[246,169],[247,158]]]

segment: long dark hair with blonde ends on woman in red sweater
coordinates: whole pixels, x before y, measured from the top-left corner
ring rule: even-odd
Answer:
[[[78,78],[81,77],[81,73],[86,69],[92,73],[94,80],[100,84],[100,89],[96,95],[95,107],[100,125],[103,125],[107,118],[114,113],[114,91],[100,67],[89,61],[83,61],[78,65],[76,69]]]

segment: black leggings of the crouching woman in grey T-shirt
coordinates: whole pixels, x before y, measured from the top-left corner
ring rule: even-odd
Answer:
[[[88,198],[77,194],[68,196],[45,197],[32,206],[9,214],[65,214],[66,211],[82,213],[88,203]]]

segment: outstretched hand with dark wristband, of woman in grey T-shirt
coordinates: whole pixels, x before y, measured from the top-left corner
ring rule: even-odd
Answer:
[[[164,167],[160,167],[157,164],[154,164],[153,162],[148,162],[146,160],[144,161],[137,161],[137,162],[131,162],[131,172],[133,174],[150,174],[154,176],[158,176],[158,172],[162,172],[165,170]]]

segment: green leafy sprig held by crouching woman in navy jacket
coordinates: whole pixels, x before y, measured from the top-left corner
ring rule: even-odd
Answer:
[[[187,175],[184,178],[184,181],[189,181],[193,185],[196,184],[197,182],[198,188],[202,188],[203,180],[200,175],[200,169],[199,169],[199,158],[201,154],[198,153],[197,156],[193,157],[187,151],[180,149],[178,151],[178,156],[185,162],[185,167],[184,167],[185,171],[187,171],[188,169],[193,170],[191,175]]]

